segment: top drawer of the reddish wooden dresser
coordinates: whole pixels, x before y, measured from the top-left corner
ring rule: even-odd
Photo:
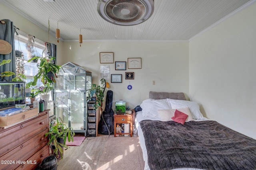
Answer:
[[[48,129],[48,114],[25,121],[0,132],[0,156],[24,143],[31,137]]]

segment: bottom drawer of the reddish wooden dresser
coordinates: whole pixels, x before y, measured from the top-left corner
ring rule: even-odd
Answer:
[[[26,160],[25,164],[20,165],[16,170],[34,170],[39,166],[44,158],[49,156],[49,146],[43,147],[41,150],[36,152],[33,156]]]

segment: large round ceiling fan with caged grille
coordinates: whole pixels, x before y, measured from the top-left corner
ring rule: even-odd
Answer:
[[[154,0],[99,0],[97,10],[110,23],[137,25],[152,16]]]

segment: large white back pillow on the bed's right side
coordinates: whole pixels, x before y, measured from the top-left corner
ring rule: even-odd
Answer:
[[[183,107],[188,107],[193,119],[205,119],[205,117],[200,112],[200,107],[196,102],[191,102],[187,100],[174,100],[168,99],[172,109],[179,109]]]

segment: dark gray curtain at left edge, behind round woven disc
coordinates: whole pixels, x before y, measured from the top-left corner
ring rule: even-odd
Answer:
[[[14,25],[13,22],[7,19],[1,20],[4,23],[0,22],[0,39],[3,39],[12,45],[12,52],[7,55],[0,54],[0,60],[11,59],[10,63],[0,66],[0,73],[4,71],[12,71],[16,73],[16,64],[15,64],[15,43],[14,43]],[[15,75],[4,77],[4,80],[11,81]]]

